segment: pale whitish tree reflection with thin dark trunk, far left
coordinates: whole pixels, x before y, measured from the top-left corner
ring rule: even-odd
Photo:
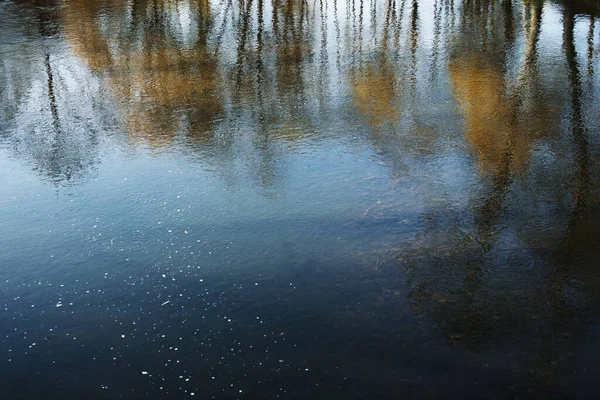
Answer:
[[[99,135],[114,128],[111,106],[84,65],[63,57],[60,2],[5,8],[2,136],[42,176],[77,183],[97,160]]]

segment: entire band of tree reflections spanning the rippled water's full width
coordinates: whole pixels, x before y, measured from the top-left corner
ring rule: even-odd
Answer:
[[[525,343],[527,357],[508,356],[515,368],[552,383],[600,316],[597,2],[15,10],[3,18],[31,11],[38,25],[11,34],[37,47],[1,66],[2,140],[41,175],[77,182],[120,132],[276,197],[291,155],[368,148],[396,185],[368,218],[418,214],[415,232],[375,257],[400,260],[411,310],[453,346]],[[400,192],[413,202],[398,204]]]

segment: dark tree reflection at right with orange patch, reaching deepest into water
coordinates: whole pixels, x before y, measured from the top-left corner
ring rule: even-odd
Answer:
[[[480,352],[525,343],[513,365],[554,389],[600,315],[586,283],[596,281],[600,256],[599,103],[584,84],[597,85],[585,40],[596,45],[594,16],[581,14],[583,3],[560,3],[457,8],[448,76],[476,174],[458,201],[428,202],[401,260],[413,309],[450,343]],[[554,36],[562,46],[548,49],[550,15],[562,21]],[[578,25],[591,32],[584,40]],[[440,186],[434,195],[452,191],[452,182]]]

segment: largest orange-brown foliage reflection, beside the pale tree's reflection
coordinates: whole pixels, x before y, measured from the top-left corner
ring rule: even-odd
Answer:
[[[191,19],[195,17],[196,19]],[[221,112],[218,74],[206,46],[206,0],[69,2],[66,36],[90,68],[107,74],[132,138],[164,146],[181,130],[205,138]]]

